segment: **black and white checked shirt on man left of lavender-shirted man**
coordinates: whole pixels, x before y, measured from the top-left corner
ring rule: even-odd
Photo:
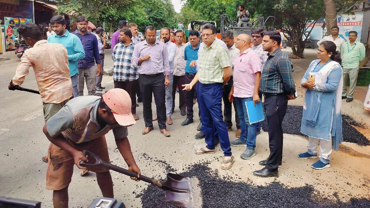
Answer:
[[[114,81],[133,81],[139,78],[138,68],[132,65],[131,58],[134,53],[135,43],[125,46],[122,42],[113,48],[113,80]]]

